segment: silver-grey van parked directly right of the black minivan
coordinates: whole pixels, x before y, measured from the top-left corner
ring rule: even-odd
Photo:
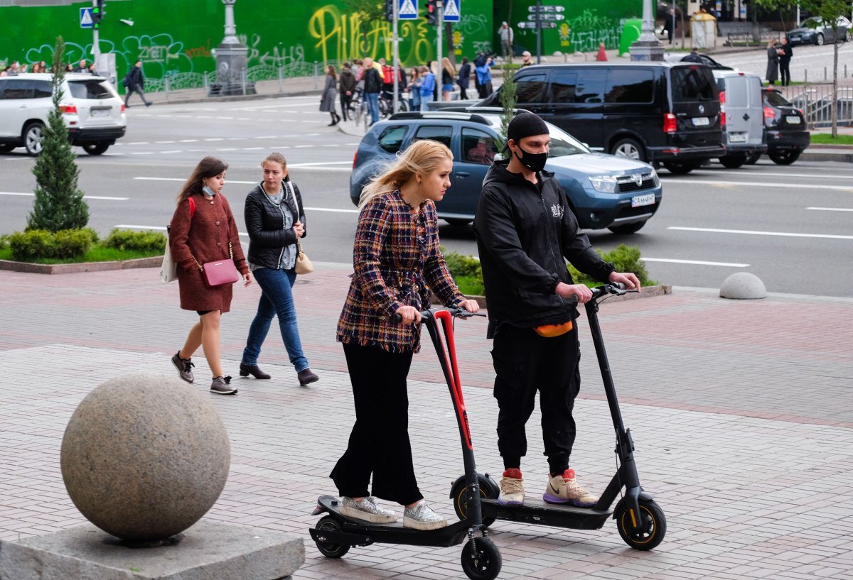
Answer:
[[[752,72],[714,71],[720,89],[720,117],[726,154],[720,163],[736,168],[767,151],[761,77]]]

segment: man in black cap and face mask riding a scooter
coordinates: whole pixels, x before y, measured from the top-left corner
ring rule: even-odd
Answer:
[[[487,337],[494,339],[497,446],[503,458],[502,504],[524,502],[521,457],[527,452],[525,423],[537,391],[548,485],[543,500],[590,508],[598,497],[583,489],[569,456],[575,439],[572,418],[580,389],[577,308],[592,292],[574,284],[566,260],[602,282],[640,289],[633,273],[617,273],[580,231],[560,184],[544,170],[551,141],[548,125],[521,112],[507,130],[508,160],[492,164],[483,181],[474,218],[485,296]]]

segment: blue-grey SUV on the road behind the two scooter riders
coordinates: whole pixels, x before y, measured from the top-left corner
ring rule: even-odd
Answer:
[[[358,145],[350,175],[350,198],[358,204],[363,187],[380,168],[418,139],[433,139],[453,152],[452,187],[436,205],[438,217],[454,225],[473,221],[483,178],[500,158],[501,110],[401,112],[374,123]],[[566,190],[580,226],[635,233],[660,206],[662,187],[654,168],[630,158],[589,151],[548,123],[551,150],[545,169]]]

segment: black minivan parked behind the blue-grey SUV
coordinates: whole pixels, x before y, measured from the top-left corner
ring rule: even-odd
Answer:
[[[692,62],[525,66],[516,106],[591,148],[684,174],[725,155],[711,68]],[[501,106],[500,90],[477,106]]]

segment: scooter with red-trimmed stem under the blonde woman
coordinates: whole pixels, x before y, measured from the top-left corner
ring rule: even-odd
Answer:
[[[421,321],[427,325],[432,344],[438,353],[438,361],[444,371],[444,378],[450,389],[450,399],[453,400],[456,411],[456,422],[462,445],[462,461],[465,475],[461,480],[472,490],[479,489],[477,468],[474,464],[471,431],[468,428],[467,411],[462,399],[462,388],[459,380],[459,370],[456,366],[456,344],[453,335],[453,319],[468,317],[472,313],[462,308],[454,310],[425,310],[421,312]],[[481,315],[482,316],[482,315]],[[398,320],[398,315],[395,315]],[[438,321],[444,330],[444,342],[438,331]],[[444,345],[447,348],[445,350]],[[403,527],[401,523],[374,524],[364,520],[349,518],[340,513],[340,502],[336,497],[320,496],[317,507],[312,515],[326,513],[310,528],[311,538],[317,549],[328,558],[340,558],[349,552],[352,546],[368,546],[372,543],[399,543],[415,546],[434,546],[448,548],[456,546],[467,538],[462,548],[461,565],[467,577],[472,580],[492,580],[501,571],[501,553],[488,537],[488,531],[483,524],[480,512],[480,494],[472,493],[472,500],[467,502],[466,515],[461,521],[447,527],[432,531],[413,530]],[[475,537],[479,531],[481,537]]]

